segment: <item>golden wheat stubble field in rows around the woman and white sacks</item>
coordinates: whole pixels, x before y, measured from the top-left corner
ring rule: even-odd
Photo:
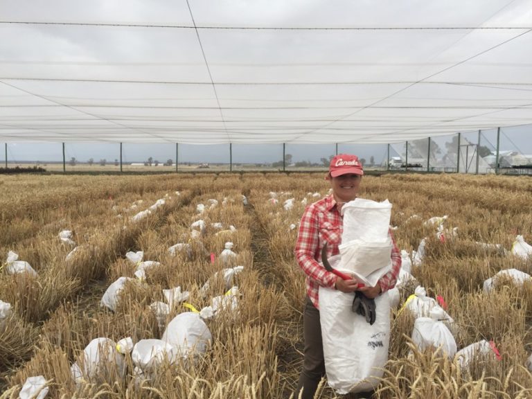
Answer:
[[[299,222],[305,199],[310,203],[328,192],[323,174],[6,176],[0,177],[0,190],[0,300],[12,310],[0,328],[1,398],[17,398],[26,378],[37,375],[48,381],[48,398],[290,398],[301,367],[305,295],[291,225]],[[505,281],[491,292],[482,289],[502,269],[531,274],[532,258],[477,244],[510,251],[517,234],[532,242],[532,180],[366,176],[360,197],[393,204],[391,225],[400,249],[411,253],[426,238],[423,263],[412,274],[430,296],[445,298],[458,326],[457,347],[493,340],[501,355],[479,357],[461,369],[441,351],[417,351],[410,339],[414,317],[399,305],[391,312],[389,362],[375,397],[532,398],[526,368],[532,284]],[[292,208],[285,209],[291,198]],[[163,205],[132,220],[159,199]],[[199,204],[205,206],[202,213]],[[457,228],[445,242],[424,223],[443,215],[446,228]],[[197,220],[204,221],[203,229],[191,227]],[[63,230],[73,232],[76,244],[60,240]],[[168,248],[179,242],[188,250],[171,256]],[[163,362],[139,381],[125,355],[124,375],[104,370],[74,382],[71,364],[91,339],[161,338],[164,325],[150,304],[164,301],[162,290],[189,291],[188,303],[196,309],[223,295],[223,279],[211,277],[227,267],[220,257],[225,242],[233,242],[231,266],[244,267],[233,281],[240,292],[238,311],[206,321],[212,342],[200,360]],[[78,250],[66,260],[74,247]],[[9,251],[36,276],[8,274]],[[144,260],[159,265],[139,280],[136,266],[125,258],[128,251],[143,251]],[[100,307],[107,287],[121,276],[132,280],[116,310]],[[209,278],[209,294],[202,295]],[[413,285],[403,287],[401,302],[413,292]],[[175,305],[166,322],[189,311]],[[339,397],[326,384],[320,394]]]

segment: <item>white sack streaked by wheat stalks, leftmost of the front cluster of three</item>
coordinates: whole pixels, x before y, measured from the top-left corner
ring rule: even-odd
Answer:
[[[125,375],[125,362],[116,350],[116,342],[109,338],[95,338],[83,350],[80,359],[72,364],[70,372],[76,384],[85,379],[107,378],[109,374]]]

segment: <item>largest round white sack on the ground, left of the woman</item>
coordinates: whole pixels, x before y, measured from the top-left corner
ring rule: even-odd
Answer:
[[[179,357],[186,359],[204,355],[213,337],[199,313],[184,312],[168,323],[161,339],[175,346]]]

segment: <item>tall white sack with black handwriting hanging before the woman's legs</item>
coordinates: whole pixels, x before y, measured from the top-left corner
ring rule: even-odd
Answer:
[[[380,383],[388,360],[390,305],[387,292],[375,298],[371,326],[351,310],[355,294],[319,287],[323,357],[330,387],[337,393],[369,391]]]

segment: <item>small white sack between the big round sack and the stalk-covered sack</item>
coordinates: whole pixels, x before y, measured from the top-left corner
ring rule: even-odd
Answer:
[[[151,373],[166,361],[174,363],[177,360],[177,348],[162,339],[141,339],[133,347],[131,360],[142,371]]]

